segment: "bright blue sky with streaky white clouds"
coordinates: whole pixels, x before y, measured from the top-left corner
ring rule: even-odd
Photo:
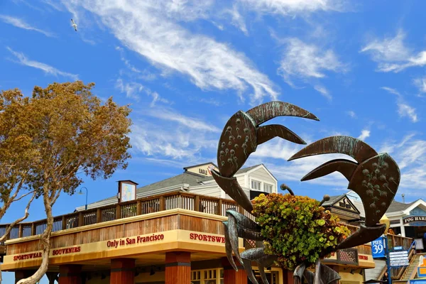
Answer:
[[[83,80],[102,99],[131,104],[129,168],[85,179],[89,202],[115,195],[117,180],[147,185],[216,163],[229,116],[275,99],[320,118],[273,120],[308,143],[342,134],[390,153],[401,170],[396,200],[405,193],[411,202],[426,190],[425,9],[422,1],[6,0],[0,89],[30,95],[35,85]],[[274,138],[246,165],[264,163],[298,195],[345,192],[339,174],[300,182],[337,156],[287,162],[300,148]],[[62,195],[53,211],[84,200]],[[28,220],[43,219],[42,208],[35,202]],[[16,204],[1,222],[22,211]]]

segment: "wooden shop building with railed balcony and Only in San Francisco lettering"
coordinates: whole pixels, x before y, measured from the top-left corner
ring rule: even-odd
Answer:
[[[61,284],[250,283],[244,269],[234,271],[226,259],[222,222],[227,209],[253,217],[217,186],[209,173],[214,166],[187,167],[181,175],[137,190],[135,182],[121,181],[119,195],[55,217],[47,273],[51,283],[55,278]],[[241,169],[236,177],[251,199],[278,189],[264,165]],[[340,206],[348,202],[344,198],[330,200],[327,207],[353,221],[359,212]],[[45,225],[40,220],[12,229],[2,271],[14,271],[18,280],[40,266],[39,235]],[[0,233],[5,228],[0,226]],[[240,239],[240,251],[251,247],[251,241]],[[337,251],[324,263],[339,271],[342,284],[362,283],[364,269],[374,266],[369,245]],[[256,263],[253,270],[258,275]],[[290,271],[273,266],[266,273],[271,284],[293,282]]]

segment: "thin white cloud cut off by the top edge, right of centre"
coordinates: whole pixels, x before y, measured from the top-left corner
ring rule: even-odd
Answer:
[[[315,11],[343,11],[344,1],[339,0],[238,0],[248,9],[258,13],[281,15],[312,13]]]

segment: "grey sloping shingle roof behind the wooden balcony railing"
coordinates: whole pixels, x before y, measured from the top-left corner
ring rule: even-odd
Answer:
[[[249,170],[252,170],[253,168],[256,168],[256,167],[258,167],[258,165],[242,168],[238,172],[236,172],[236,174],[246,173]],[[160,180],[159,182],[153,182],[150,185],[139,187],[136,190],[136,197],[138,198],[146,197],[149,195],[153,195],[155,190],[160,190],[167,187],[174,187],[174,186],[183,185],[183,184],[187,184],[190,187],[193,187],[193,186],[201,185],[201,182],[205,182],[207,180],[213,180],[213,177],[204,177],[202,175],[197,175],[195,173],[185,172],[185,173],[181,173],[180,175],[175,175],[174,177],[167,178],[165,180]],[[176,190],[176,188],[175,189],[171,188],[170,190]],[[162,192],[155,192],[155,194],[160,194],[160,193]],[[109,205],[109,204],[115,204],[116,202],[117,202],[116,196],[109,197],[104,200],[99,200],[97,202],[87,204],[87,209],[101,207],[101,206]],[[75,211],[81,211],[81,210],[84,210],[84,205],[77,207],[75,209]]]

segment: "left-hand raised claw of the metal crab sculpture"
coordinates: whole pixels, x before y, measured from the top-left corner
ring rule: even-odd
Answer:
[[[249,111],[238,111],[224,126],[217,149],[218,171],[212,171],[214,180],[229,197],[239,202],[241,207],[251,212],[253,207],[249,198],[241,189],[234,174],[244,165],[249,155],[256,151],[259,144],[274,137],[280,137],[293,143],[305,144],[302,138],[282,125],[259,126],[277,116],[299,116],[317,119],[309,111],[286,102],[268,102]]]

